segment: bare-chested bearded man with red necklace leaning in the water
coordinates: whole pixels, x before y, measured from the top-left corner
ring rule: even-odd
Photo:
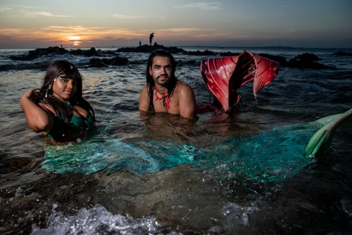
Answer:
[[[153,51],[146,70],[147,85],[141,92],[139,110],[167,112],[194,119],[196,99],[192,88],[175,77],[176,62],[166,50]]]

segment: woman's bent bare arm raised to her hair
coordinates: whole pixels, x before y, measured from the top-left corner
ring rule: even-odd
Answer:
[[[49,132],[54,125],[53,117],[45,106],[39,107],[34,104],[29,97],[32,92],[40,88],[30,89],[20,99],[20,105],[26,116],[27,124],[35,132]]]

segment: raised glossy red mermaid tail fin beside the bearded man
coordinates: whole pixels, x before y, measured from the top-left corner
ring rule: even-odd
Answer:
[[[238,103],[241,96],[237,90],[244,84],[253,82],[253,94],[269,84],[278,74],[280,64],[250,52],[240,56],[203,59],[201,73],[205,84],[220,101],[224,111]]]

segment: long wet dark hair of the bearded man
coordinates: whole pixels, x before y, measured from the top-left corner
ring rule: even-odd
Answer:
[[[171,60],[171,78],[170,78],[169,82],[167,83],[168,97],[171,98],[171,96],[173,95],[173,92],[175,90],[175,87],[176,87],[177,81],[178,81],[177,78],[175,77],[176,61],[173,58],[173,56],[171,55],[171,53],[169,53],[167,50],[163,50],[163,49],[153,51],[148,58],[147,70],[146,70],[147,88],[148,88],[148,96],[149,96],[148,111],[150,109],[154,109],[152,88],[155,86],[155,82],[154,82],[153,77],[149,73],[149,68],[151,68],[151,66],[153,64],[153,59],[156,56],[167,57]],[[165,99],[164,99],[164,107],[165,107]]]

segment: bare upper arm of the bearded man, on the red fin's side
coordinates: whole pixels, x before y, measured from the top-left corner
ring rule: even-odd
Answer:
[[[188,119],[194,119],[196,115],[196,98],[192,88],[183,84],[180,91],[180,115]]]

